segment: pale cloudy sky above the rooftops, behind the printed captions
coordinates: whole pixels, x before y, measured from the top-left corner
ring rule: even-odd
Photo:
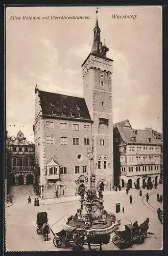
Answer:
[[[6,10],[6,122],[34,141],[35,86],[83,97],[81,65],[93,42],[96,7],[9,7]],[[135,19],[113,14],[137,15]],[[51,16],[89,19],[51,19]],[[36,16],[40,19],[24,19]],[[49,19],[42,19],[49,16]],[[16,19],[17,17],[17,19]],[[20,19],[19,19],[20,17]],[[112,58],[113,122],[162,132],[162,9],[99,7],[101,40]]]

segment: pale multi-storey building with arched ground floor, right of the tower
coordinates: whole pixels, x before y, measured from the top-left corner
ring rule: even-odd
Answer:
[[[158,184],[161,173],[161,145],[148,130],[132,129],[129,120],[115,123],[115,185],[137,187],[150,180]]]

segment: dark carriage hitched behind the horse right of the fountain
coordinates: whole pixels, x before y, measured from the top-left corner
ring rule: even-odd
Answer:
[[[135,227],[130,224],[125,225],[125,230],[114,232],[115,235],[112,238],[112,242],[114,245],[117,245],[119,249],[127,248],[132,243],[141,244],[145,238],[145,233],[137,232]]]

